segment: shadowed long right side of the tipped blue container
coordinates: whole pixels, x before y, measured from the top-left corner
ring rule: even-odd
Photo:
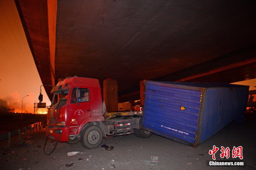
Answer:
[[[207,88],[205,95],[199,144],[245,112],[248,87]]]

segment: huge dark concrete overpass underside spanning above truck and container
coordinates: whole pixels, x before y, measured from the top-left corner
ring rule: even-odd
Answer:
[[[124,102],[139,98],[143,79],[256,78],[253,0],[15,3],[43,84],[74,75],[116,79]]]

